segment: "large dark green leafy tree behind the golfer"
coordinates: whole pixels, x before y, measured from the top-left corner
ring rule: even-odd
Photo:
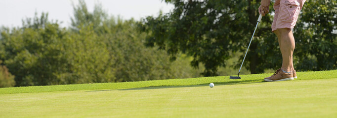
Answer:
[[[232,58],[231,54],[246,51],[256,25],[259,0],[165,1],[174,4],[172,12],[158,17],[149,16],[140,24],[140,29],[149,33],[148,46],[166,49],[172,59],[180,52],[192,56],[191,65],[198,67],[200,62],[203,63],[205,71],[202,74],[205,76],[218,75],[218,67],[228,66],[225,60]],[[336,31],[336,1],[308,0],[302,12],[294,34],[298,44],[294,54],[295,68],[336,69],[337,51],[334,47],[337,36],[332,33]],[[251,73],[279,68],[282,63],[277,38],[271,32],[272,19],[270,14],[263,17],[255,33],[244,63]],[[307,40],[317,41],[302,43]],[[313,58],[308,59],[309,56]],[[236,67],[242,59],[243,55],[236,62]],[[318,62],[317,59],[327,61]]]

